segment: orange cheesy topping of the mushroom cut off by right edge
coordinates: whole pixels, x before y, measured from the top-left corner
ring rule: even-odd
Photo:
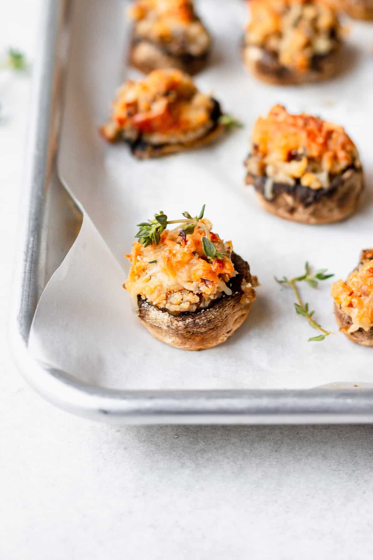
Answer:
[[[348,276],[346,282],[334,282],[332,297],[352,319],[348,332],[373,328],[373,250],[369,258]]]

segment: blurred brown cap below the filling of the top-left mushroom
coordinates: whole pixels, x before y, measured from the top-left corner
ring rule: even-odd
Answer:
[[[158,68],[177,68],[194,76],[205,68],[208,52],[201,57],[177,57],[166,53],[154,43],[133,39],[129,52],[131,66],[140,72],[148,74]]]

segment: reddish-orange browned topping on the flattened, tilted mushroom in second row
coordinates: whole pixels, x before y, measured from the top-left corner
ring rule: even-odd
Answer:
[[[166,142],[168,137],[211,127],[213,107],[211,96],[201,94],[188,74],[154,70],[144,80],[129,80],[119,88],[111,122],[102,133],[110,141],[122,132],[130,139],[141,134],[154,143]]]

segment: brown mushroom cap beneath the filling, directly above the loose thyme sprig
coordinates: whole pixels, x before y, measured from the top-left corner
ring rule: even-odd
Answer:
[[[266,177],[250,173],[246,177],[246,183],[256,189],[262,207],[285,220],[310,224],[345,220],[356,211],[363,190],[361,169],[344,171],[327,189],[273,183],[270,200],[265,197],[266,180]]]

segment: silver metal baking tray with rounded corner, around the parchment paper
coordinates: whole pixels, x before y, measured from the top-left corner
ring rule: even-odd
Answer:
[[[13,355],[26,380],[58,407],[92,419],[126,423],[369,423],[373,391],[114,390],[85,384],[37,362],[27,349],[41,292],[72,246],[82,214],[56,172],[64,69],[72,2],[49,0],[41,22],[20,208],[20,242],[10,324]],[[125,366],[124,366],[125,367]]]

